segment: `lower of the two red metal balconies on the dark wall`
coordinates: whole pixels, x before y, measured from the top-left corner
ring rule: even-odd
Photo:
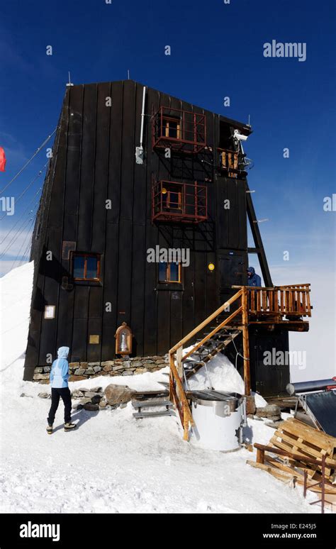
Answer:
[[[152,185],[152,221],[206,221],[207,189],[194,183],[157,181]]]

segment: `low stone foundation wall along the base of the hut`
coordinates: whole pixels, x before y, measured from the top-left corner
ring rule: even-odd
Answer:
[[[106,362],[70,362],[69,381],[90,379],[99,375],[137,375],[145,372],[157,372],[168,365],[167,357],[123,357]],[[35,367],[33,381],[49,383],[51,366]]]

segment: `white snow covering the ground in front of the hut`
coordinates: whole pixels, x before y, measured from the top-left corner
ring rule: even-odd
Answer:
[[[48,386],[23,382],[33,266],[1,279],[1,471],[0,511],[5,513],[318,513],[295,490],[246,464],[247,450],[218,453],[181,437],[177,417],[135,421],[132,408],[75,411],[78,428],[45,432]],[[218,366],[217,366],[218,367]],[[217,369],[214,367],[214,370]],[[218,373],[218,372],[217,372]],[[217,375],[217,374],[216,374]],[[134,389],[157,389],[164,372],[113,377]],[[71,384],[103,386],[107,377]],[[219,388],[219,387],[218,387]],[[25,393],[28,397],[21,397]],[[253,442],[267,443],[274,430],[249,420]]]

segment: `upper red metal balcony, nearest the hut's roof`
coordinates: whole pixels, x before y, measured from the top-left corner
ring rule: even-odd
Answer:
[[[206,147],[206,116],[160,107],[152,116],[152,146],[181,153],[199,153]]]

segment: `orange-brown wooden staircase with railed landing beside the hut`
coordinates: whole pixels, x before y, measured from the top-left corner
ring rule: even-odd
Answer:
[[[233,289],[238,290],[236,294],[169,350],[169,398],[179,412],[184,440],[189,440],[189,428],[194,426],[186,396],[191,375],[242,333],[245,395],[250,396],[249,326],[281,324],[281,328],[289,331],[308,330],[308,322],[303,317],[311,316],[310,284],[267,288],[234,286]],[[228,309],[234,310],[223,318]],[[215,326],[211,326],[212,323]],[[208,329],[206,333],[205,329]],[[196,336],[201,337],[184,353],[186,344],[191,345]]]

